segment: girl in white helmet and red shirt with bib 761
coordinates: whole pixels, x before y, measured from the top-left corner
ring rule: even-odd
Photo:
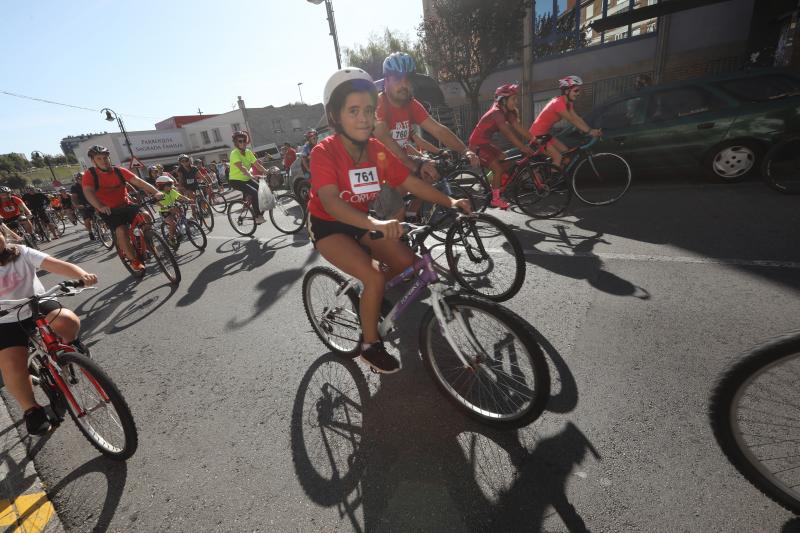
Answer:
[[[359,68],[339,70],[325,84],[322,103],[335,133],[317,143],[311,152],[308,232],[314,247],[328,262],[361,281],[361,358],[375,371],[389,374],[400,365],[378,337],[384,284],[410,266],[414,254],[399,240],[400,223],[369,216],[368,205],[383,183],[403,185],[414,196],[446,207],[468,212],[470,206],[467,200],[445,196],[411,175],[380,141],[372,138],[377,98],[372,78]],[[371,230],[383,232],[384,238],[370,239]],[[373,258],[385,264],[388,272],[381,272]]]

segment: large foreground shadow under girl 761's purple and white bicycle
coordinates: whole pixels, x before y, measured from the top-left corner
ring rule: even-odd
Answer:
[[[415,318],[418,307],[409,311]],[[543,435],[540,419],[497,431],[464,416],[417,356],[419,321],[404,323],[393,344],[401,372],[365,375],[354,360],[327,353],[298,384],[291,448],[309,499],[335,508],[354,531],[537,531],[552,525],[551,508],[558,530],[587,531],[565,489],[587,456],[599,459],[580,429],[568,422]],[[578,397],[568,369],[561,382],[557,411],[566,412]]]

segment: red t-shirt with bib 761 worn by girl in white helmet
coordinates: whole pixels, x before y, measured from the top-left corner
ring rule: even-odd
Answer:
[[[369,203],[378,196],[382,183],[397,187],[408,175],[408,169],[377,139],[370,139],[367,143],[367,161],[356,165],[339,135],[331,135],[311,150],[308,212],[323,220],[336,220],[325,211],[318,193],[325,185],[336,185],[340,191],[339,198],[366,213]]]

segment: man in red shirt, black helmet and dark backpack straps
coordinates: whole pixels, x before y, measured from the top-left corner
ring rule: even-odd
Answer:
[[[108,148],[92,146],[88,156],[94,166],[89,167],[81,176],[83,194],[114,232],[115,242],[122,247],[131,267],[134,270],[143,270],[144,265],[136,258],[128,239],[128,226],[139,212],[139,207],[131,202],[126,185],[131,184],[157,199],[164,195],[146,181],[137,178],[130,170],[111,165]]]

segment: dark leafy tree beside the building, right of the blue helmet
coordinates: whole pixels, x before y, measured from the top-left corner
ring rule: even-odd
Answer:
[[[457,81],[478,116],[480,88],[499,66],[522,54],[525,0],[433,0],[418,29],[428,64]]]

